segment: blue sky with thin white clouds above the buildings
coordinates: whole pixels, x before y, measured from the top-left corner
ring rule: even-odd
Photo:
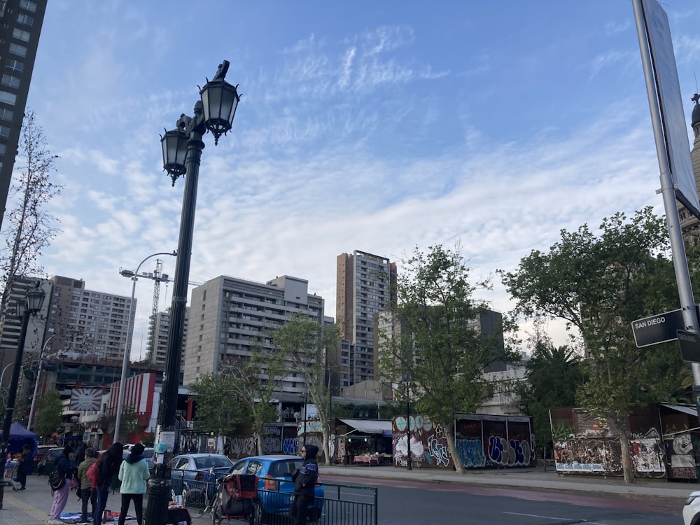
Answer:
[[[689,118],[700,4],[662,6]],[[119,267],[176,248],[159,134],[222,59],[243,97],[205,138],[193,281],[293,275],[335,316],[339,253],[459,239],[482,278],[561,228],[663,211],[631,1],[50,0],[28,101],[65,185],[45,272],[130,295]],[[152,294],[141,279],[134,356]]]

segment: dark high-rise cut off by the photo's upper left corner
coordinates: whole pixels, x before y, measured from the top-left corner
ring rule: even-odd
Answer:
[[[0,226],[47,0],[0,0]]]

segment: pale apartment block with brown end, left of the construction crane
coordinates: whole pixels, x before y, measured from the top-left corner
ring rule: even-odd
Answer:
[[[85,282],[71,277],[54,276],[52,290],[46,297],[45,339],[51,335],[52,349],[76,356],[97,359],[122,360],[125,345],[133,337],[134,319],[129,316],[136,310],[131,307],[131,297],[94,290],[86,290]],[[131,331],[127,330],[131,326]],[[129,350],[131,345],[129,344]]]

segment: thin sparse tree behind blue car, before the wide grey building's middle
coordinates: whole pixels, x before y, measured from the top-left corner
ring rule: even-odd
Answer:
[[[250,356],[230,357],[224,363],[225,370],[233,378],[228,383],[233,397],[241,399],[251,414],[256,446],[262,454],[265,423],[277,421],[277,412],[271,403],[274,392],[281,389],[281,377],[287,372],[284,356],[258,342],[251,346]]]

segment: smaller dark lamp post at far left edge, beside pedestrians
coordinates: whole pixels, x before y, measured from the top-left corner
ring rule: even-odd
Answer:
[[[12,378],[10,379],[10,391],[7,396],[7,408],[5,410],[5,420],[2,426],[2,442],[0,443],[0,460],[2,461],[3,477],[0,479],[0,509],[2,508],[3,498],[5,496],[5,458],[7,457],[8,443],[10,442],[10,426],[12,425],[13,416],[15,413],[15,398],[17,395],[17,386],[22,372],[22,353],[25,350],[25,340],[27,339],[27,326],[29,325],[29,317],[41,311],[43,305],[44,290],[40,288],[41,282],[36,281],[34,288],[27,291],[24,301],[17,304],[18,314],[22,316],[22,329],[20,330],[20,341],[17,345],[15,353],[15,366],[12,370]]]

